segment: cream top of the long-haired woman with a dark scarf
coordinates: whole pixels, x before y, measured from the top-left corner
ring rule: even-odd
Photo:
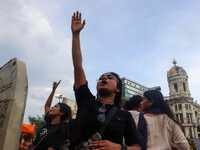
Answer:
[[[147,123],[147,150],[171,150],[171,141],[180,150],[188,150],[189,145],[180,127],[166,114],[144,115]],[[135,118],[138,124],[139,117]]]

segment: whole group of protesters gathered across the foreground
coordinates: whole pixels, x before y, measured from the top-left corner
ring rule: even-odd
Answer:
[[[190,150],[169,105],[158,90],[135,95],[122,108],[122,81],[115,72],[103,73],[97,82],[97,96],[88,87],[82,66],[80,32],[85,26],[81,13],[73,14],[72,60],[76,119],[71,108],[52,99],[60,81],[45,103],[46,124],[38,131],[36,150]],[[196,145],[194,146],[196,148]]]

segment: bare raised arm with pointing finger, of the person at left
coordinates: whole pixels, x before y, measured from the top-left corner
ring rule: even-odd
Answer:
[[[61,82],[61,80],[58,83],[57,82],[53,83],[52,91],[51,91],[51,93],[50,93],[50,95],[49,95],[49,97],[48,97],[48,99],[47,99],[47,101],[46,101],[46,103],[44,105],[45,114],[50,111],[51,103],[52,103],[52,100],[53,100],[53,96],[54,96],[56,88],[58,87],[60,82]]]

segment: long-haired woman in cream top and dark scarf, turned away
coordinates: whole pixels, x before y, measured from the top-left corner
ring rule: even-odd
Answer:
[[[179,123],[158,90],[144,92],[144,112],[135,118],[142,150],[171,150],[172,140],[178,150],[189,150]]]

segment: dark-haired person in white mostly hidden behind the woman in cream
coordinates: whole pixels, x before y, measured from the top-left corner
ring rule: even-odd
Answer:
[[[140,95],[133,95],[129,100],[127,100],[124,104],[124,109],[128,110],[133,119],[139,116],[140,112],[142,112],[141,103],[142,96]]]

